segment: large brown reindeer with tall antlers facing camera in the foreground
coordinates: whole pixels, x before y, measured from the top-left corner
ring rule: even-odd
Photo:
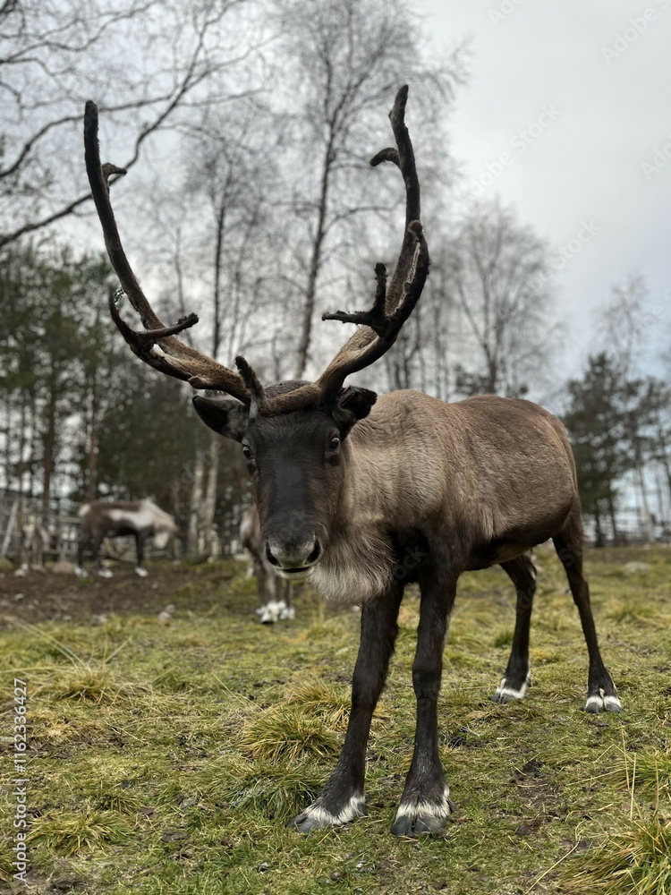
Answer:
[[[494,700],[522,699],[530,683],[529,627],[536,572],[529,550],[552,538],[565,567],[589,652],[588,712],[619,712],[604,667],[582,573],[582,521],[571,447],[556,417],[529,401],[476,396],[446,404],[411,390],[377,396],[344,380],[376,362],[417,304],[429,271],[420,223],[420,184],[404,124],[407,87],[390,113],[392,161],[405,183],[405,232],[388,285],[375,268],[370,311],[324,315],[360,325],[314,382],[263,387],[250,364],[238,372],[176,337],[191,314],[165,327],[126,259],[101,168],[97,108],[85,113],[89,183],[106,248],[123,293],[145,332],[110,311],[132,351],[154,369],[195,389],[201,419],[240,442],[255,492],[264,549],[278,575],[309,579],[327,598],[362,601],[361,644],[352,678],[352,712],[342,754],[319,797],[293,820],[302,832],[347,823],[365,813],[363,795],[370,720],[394,650],[406,584],[420,585],[420,622],[412,666],[417,699],[412,763],[392,832],[439,830],[453,810],[438,752],[437,701],[447,626],[459,575],[500,565],[517,592],[514,641]]]

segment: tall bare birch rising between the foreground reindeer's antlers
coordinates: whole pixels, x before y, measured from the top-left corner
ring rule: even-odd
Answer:
[[[300,160],[294,169],[290,205],[306,236],[301,258],[300,336],[294,377],[301,379],[310,355],[319,278],[337,252],[335,234],[353,218],[389,203],[379,179],[370,183],[365,149],[375,146],[379,110],[395,87],[412,83],[420,119],[437,119],[450,106],[463,78],[461,48],[429,67],[420,49],[415,19],[401,0],[276,0],[284,68],[297,109],[293,129]],[[366,170],[368,183],[361,178]]]

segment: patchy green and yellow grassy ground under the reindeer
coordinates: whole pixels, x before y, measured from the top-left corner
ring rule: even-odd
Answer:
[[[308,837],[285,822],[317,794],[342,743],[356,613],[325,611],[306,594],[295,622],[260,626],[253,585],[234,564],[162,568],[147,579],[159,585],[153,603],[136,608],[128,575],[67,586],[47,575],[35,618],[40,605],[62,605],[60,588],[66,620],[33,624],[30,605],[10,594],[2,733],[8,744],[16,676],[29,691],[32,891],[669,895],[671,551],[589,555],[602,651],[624,704],[607,716],[582,711],[577,613],[556,558],[538,560],[533,686],[522,703],[488,699],[512,638],[509,581],[499,569],[463,577],[440,705],[457,811],[422,840],[389,833],[412,751],[414,594],[373,722],[369,815]],[[171,580],[176,609],[162,625]],[[113,611],[92,625],[90,589],[103,586]],[[0,891],[25,891],[11,879],[8,767],[5,758]]]

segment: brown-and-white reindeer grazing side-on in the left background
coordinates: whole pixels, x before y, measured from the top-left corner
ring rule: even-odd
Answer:
[[[81,519],[81,533],[77,550],[77,566],[74,574],[82,578],[87,575],[83,568],[84,551],[90,546],[101,578],[111,578],[112,572],[102,564],[100,547],[106,535],[117,537],[132,534],[137,550],[135,574],[144,578],[149,572],[144,567],[144,544],[148,538],[160,549],[177,533],[177,524],[172,516],[159,509],[151,500],[131,502],[94,500],[84,504],[78,513]]]

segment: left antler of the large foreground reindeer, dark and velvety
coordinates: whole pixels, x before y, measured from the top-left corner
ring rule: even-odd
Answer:
[[[101,166],[98,147],[98,107],[90,100],[84,111],[84,156],[91,193],[105,236],[107,255],[115,269],[116,276],[119,277],[122,292],[127,295],[133,308],[140,314],[142,326],[147,330],[147,332],[136,332],[123,321],[116,307],[115,294],[111,293],[110,312],[123,338],[131,346],[133,353],[149,366],[154,367],[155,370],[174,376],[176,379],[184,379],[193,388],[225,391],[238,398],[243,404],[250,405],[250,390],[245,386],[238,373],[217,363],[206,354],[200,354],[189,345],[184,345],[176,338],[177,333],[198,322],[197,315],[190,314],[174,327],[166,327],[158,319],[147,297],[142,292],[126,258],[125,251],[123,251],[112,203],[109,199],[109,176],[112,174],[124,175],[126,172],[123,168],[114,165]],[[159,342],[160,354],[155,350]]]

